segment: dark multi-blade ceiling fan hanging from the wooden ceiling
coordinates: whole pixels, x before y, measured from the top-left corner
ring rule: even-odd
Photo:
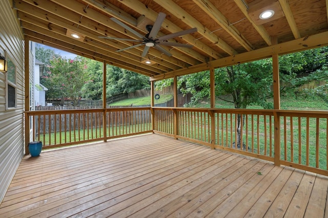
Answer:
[[[182,36],[182,35],[186,35],[186,34],[190,34],[190,33],[194,33],[197,31],[197,28],[192,28],[189,30],[183,30],[177,33],[172,33],[166,36],[160,36],[160,37],[156,37],[164,19],[166,17],[165,13],[160,12],[155,20],[154,25],[147,25],[146,26],[146,30],[148,31],[148,33],[146,34],[146,36],[142,36],[140,33],[136,32],[135,30],[133,30],[132,28],[128,27],[127,25],[125,25],[124,23],[122,23],[121,21],[119,21],[118,19],[116,19],[115,17],[110,18],[111,20],[113,20],[114,22],[116,22],[118,25],[120,25],[121,27],[124,27],[125,29],[127,29],[128,31],[130,31],[131,33],[133,33],[134,35],[136,35],[137,37],[140,38],[140,40],[136,40],[136,39],[123,39],[123,38],[115,38],[115,37],[106,37],[106,36],[99,36],[99,38],[106,38],[106,39],[114,39],[114,40],[124,40],[124,41],[133,41],[133,42],[140,42],[139,44],[136,45],[132,45],[130,47],[126,47],[125,49],[120,49],[117,50],[116,52],[121,52],[121,51],[125,51],[128,49],[133,49],[134,47],[139,47],[141,45],[145,45],[145,49],[144,52],[142,52],[141,57],[145,57],[150,49],[150,47],[154,47],[155,49],[157,49],[158,51],[164,53],[165,55],[171,57],[172,54],[169,53],[168,51],[166,51],[165,49],[163,49],[163,47],[161,47],[160,45],[167,45],[167,46],[180,46],[180,47],[193,47],[193,45],[190,44],[182,44],[182,43],[177,43],[177,42],[168,42],[166,40],[174,38],[174,37],[178,37],[178,36]]]

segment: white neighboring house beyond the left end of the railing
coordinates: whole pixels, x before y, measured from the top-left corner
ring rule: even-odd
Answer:
[[[33,75],[33,102],[35,107],[46,106],[46,91],[48,91],[48,89],[40,84],[40,77],[42,77],[44,65],[44,63],[35,59]]]

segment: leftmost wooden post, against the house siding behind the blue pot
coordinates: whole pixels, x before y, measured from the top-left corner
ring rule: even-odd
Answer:
[[[25,59],[24,59],[24,86],[25,86],[25,111],[30,110],[30,37],[24,37]],[[34,128],[34,127],[33,127]],[[30,116],[25,114],[25,154],[30,154],[28,145],[30,142]]]

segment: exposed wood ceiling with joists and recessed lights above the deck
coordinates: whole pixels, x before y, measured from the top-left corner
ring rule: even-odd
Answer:
[[[11,0],[9,0],[11,1]],[[23,33],[30,40],[132,70],[151,80],[270,57],[328,44],[328,0],[14,0]],[[275,15],[260,20],[264,9]],[[280,12],[279,12],[280,10]],[[144,46],[117,52],[139,39],[111,20],[115,17],[141,35],[159,12],[166,14],[157,36],[190,28],[197,32],[169,39],[192,48],[162,46],[169,57]],[[68,33],[83,36],[74,39]],[[142,61],[151,60],[151,65]]]

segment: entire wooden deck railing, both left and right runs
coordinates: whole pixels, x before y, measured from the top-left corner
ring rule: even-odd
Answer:
[[[155,132],[328,175],[328,112],[108,108],[28,111],[44,148]]]

